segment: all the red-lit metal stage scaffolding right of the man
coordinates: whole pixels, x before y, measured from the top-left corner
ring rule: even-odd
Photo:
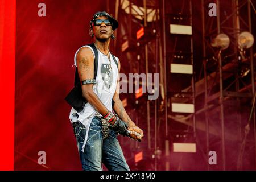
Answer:
[[[220,0],[196,1],[196,3],[198,2],[201,3],[203,40],[200,73],[195,73],[194,69],[193,36],[170,35],[169,32],[167,34],[172,22],[193,26],[192,6],[195,1],[183,1],[183,6],[180,6],[179,10],[171,10],[175,13],[166,11],[166,3],[169,3],[169,1],[165,0],[117,0],[115,4],[115,18],[121,18],[122,20],[119,21],[120,24],[117,30],[119,43],[114,43],[114,48],[116,52],[119,51],[118,55],[122,55],[122,58],[125,57],[126,60],[129,60],[129,64],[123,68],[126,74],[159,73],[158,100],[144,100],[146,102],[146,105],[144,105],[146,108],[145,114],[147,115],[145,119],[147,146],[141,146],[138,143],[134,144],[135,146],[130,146],[134,148],[144,147],[144,150],[150,151],[151,156],[154,156],[152,158],[154,159],[152,169],[155,170],[158,169],[159,136],[164,137],[165,140],[164,146],[162,146],[165,154],[163,158],[165,160],[164,169],[170,169],[171,147],[169,145],[172,142],[170,140],[173,140],[171,135],[178,132],[170,128],[170,124],[174,122],[187,125],[187,130],[181,131],[181,133],[186,132],[187,135],[190,135],[197,146],[201,144],[197,137],[197,131],[205,133],[206,142],[203,149],[205,152],[205,166],[208,170],[212,169],[208,163],[208,154],[211,150],[220,151],[221,155],[218,155],[218,157],[221,156],[222,169],[229,169],[226,164],[226,142],[237,143],[237,147],[240,148],[236,156],[236,169],[243,169],[243,154],[248,152],[244,150],[247,135],[244,134],[246,123],[244,123],[243,118],[245,116],[242,115],[244,113],[241,113],[241,109],[243,104],[251,104],[255,96],[254,60],[256,53],[253,53],[253,47],[251,47],[245,55],[241,56],[237,39],[242,31],[252,31],[251,15],[253,13],[251,10],[253,10],[253,3],[249,0],[234,0],[230,1],[230,6],[224,6],[224,1]],[[208,5],[213,2],[217,5],[216,18],[208,15]],[[136,32],[141,27],[144,27],[144,36],[137,40]],[[211,39],[220,33],[225,33],[230,38],[228,50],[220,51],[210,45]],[[149,37],[151,38],[148,39]],[[187,39],[187,44],[183,44],[184,49],[180,49],[178,44],[184,39]],[[125,51],[121,51],[122,45],[126,41],[129,46]],[[170,79],[175,78],[173,76],[175,73],[170,72],[170,64],[175,63],[174,56],[181,55],[187,58],[184,59],[184,64],[192,65],[191,77],[184,77],[187,78],[185,88],[184,85],[175,87],[175,85],[168,84]],[[249,79],[248,76],[242,77],[243,68],[250,69]],[[134,97],[131,98],[138,103],[143,102]],[[174,102],[193,104],[195,111],[190,114],[173,112],[172,103]],[[138,113],[136,109],[138,103],[131,104],[135,109],[130,112],[137,123],[141,122],[138,114],[142,114]],[[235,115],[226,114],[230,110]],[[250,126],[253,128],[251,132],[253,132],[254,139],[253,142],[251,140],[247,140],[247,142],[254,144],[256,164],[255,111],[251,113]],[[249,118],[250,111],[247,114],[247,118]],[[231,121],[234,118],[235,122],[232,123]],[[162,127],[163,125],[164,127]],[[229,129],[229,126],[236,127],[237,133],[234,133],[235,129]],[[180,167],[177,169],[180,169]]]

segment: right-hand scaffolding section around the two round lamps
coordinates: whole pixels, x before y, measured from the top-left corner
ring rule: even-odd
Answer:
[[[225,124],[228,123],[228,117],[225,117],[225,102],[232,100],[235,105],[236,115],[237,115],[237,123],[234,122],[233,125],[237,124],[238,135],[235,137],[236,133],[230,133],[229,135],[235,137],[237,141],[240,141],[240,147],[242,146],[243,138],[243,127],[241,123],[241,100],[253,100],[255,94],[255,77],[254,77],[254,56],[253,56],[253,47],[250,48],[250,56],[243,57],[240,55],[240,51],[238,49],[238,35],[242,31],[251,32],[251,1],[230,1],[231,6],[229,7],[221,7],[220,0],[216,1],[217,5],[217,21],[213,22],[214,19],[209,18],[208,16],[208,8],[207,5],[210,1],[201,1],[202,6],[202,27],[203,27],[203,70],[204,70],[204,80],[198,81],[196,83],[196,89],[199,90],[197,92],[197,96],[200,94],[204,94],[204,114],[205,114],[205,131],[207,138],[207,155],[210,148],[209,143],[209,120],[210,115],[212,113],[220,114],[221,121],[221,152],[222,152],[222,169],[226,169],[226,140],[230,138],[226,134]],[[242,8],[247,8],[247,16],[241,16],[240,12]],[[229,10],[230,14],[224,16],[221,11],[225,9]],[[230,52],[218,52],[209,45],[209,37],[211,35],[216,35],[220,33],[227,34],[231,43],[229,45]],[[217,59],[218,66],[217,70],[214,72],[208,72],[208,63],[209,63],[209,55],[212,52],[215,59]],[[226,60],[225,60],[226,59]],[[249,65],[245,64],[249,63]],[[242,77],[242,66],[245,65],[250,67],[251,80],[245,81]],[[225,82],[225,83],[224,83]],[[231,82],[231,83],[230,83]],[[200,86],[204,85],[204,89],[200,89]],[[217,86],[218,85],[218,86]],[[218,89],[214,90],[214,86],[217,86]],[[214,90],[214,91],[213,91]],[[214,100],[218,100],[218,102],[214,102]],[[201,110],[200,110],[201,111]],[[247,113],[249,116],[249,112]],[[228,114],[227,114],[228,115]],[[253,130],[254,130],[254,140],[255,140],[255,112],[253,112]],[[255,141],[254,141],[255,142]],[[241,152],[238,154],[237,161],[237,169],[241,169]],[[256,155],[255,155],[256,157]],[[209,169],[209,165],[208,165]]]

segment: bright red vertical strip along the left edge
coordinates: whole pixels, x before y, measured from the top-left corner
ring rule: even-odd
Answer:
[[[0,0],[0,170],[13,170],[16,1]]]

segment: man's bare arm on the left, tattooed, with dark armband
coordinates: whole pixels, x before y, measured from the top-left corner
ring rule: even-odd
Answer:
[[[90,48],[83,47],[79,50],[76,57],[77,69],[80,81],[93,79],[94,76],[94,56]],[[106,115],[109,110],[93,92],[93,84],[82,85],[82,96],[94,107],[101,115]]]

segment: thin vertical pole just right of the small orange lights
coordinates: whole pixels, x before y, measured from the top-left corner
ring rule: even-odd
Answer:
[[[147,28],[147,6],[146,0],[143,0],[144,5],[144,30]],[[147,43],[145,44],[145,61],[146,61],[146,76],[148,76],[148,47]],[[147,87],[148,87],[148,78],[146,77]],[[148,149],[151,148],[151,137],[150,137],[150,101],[147,100],[147,142],[148,142]]]

